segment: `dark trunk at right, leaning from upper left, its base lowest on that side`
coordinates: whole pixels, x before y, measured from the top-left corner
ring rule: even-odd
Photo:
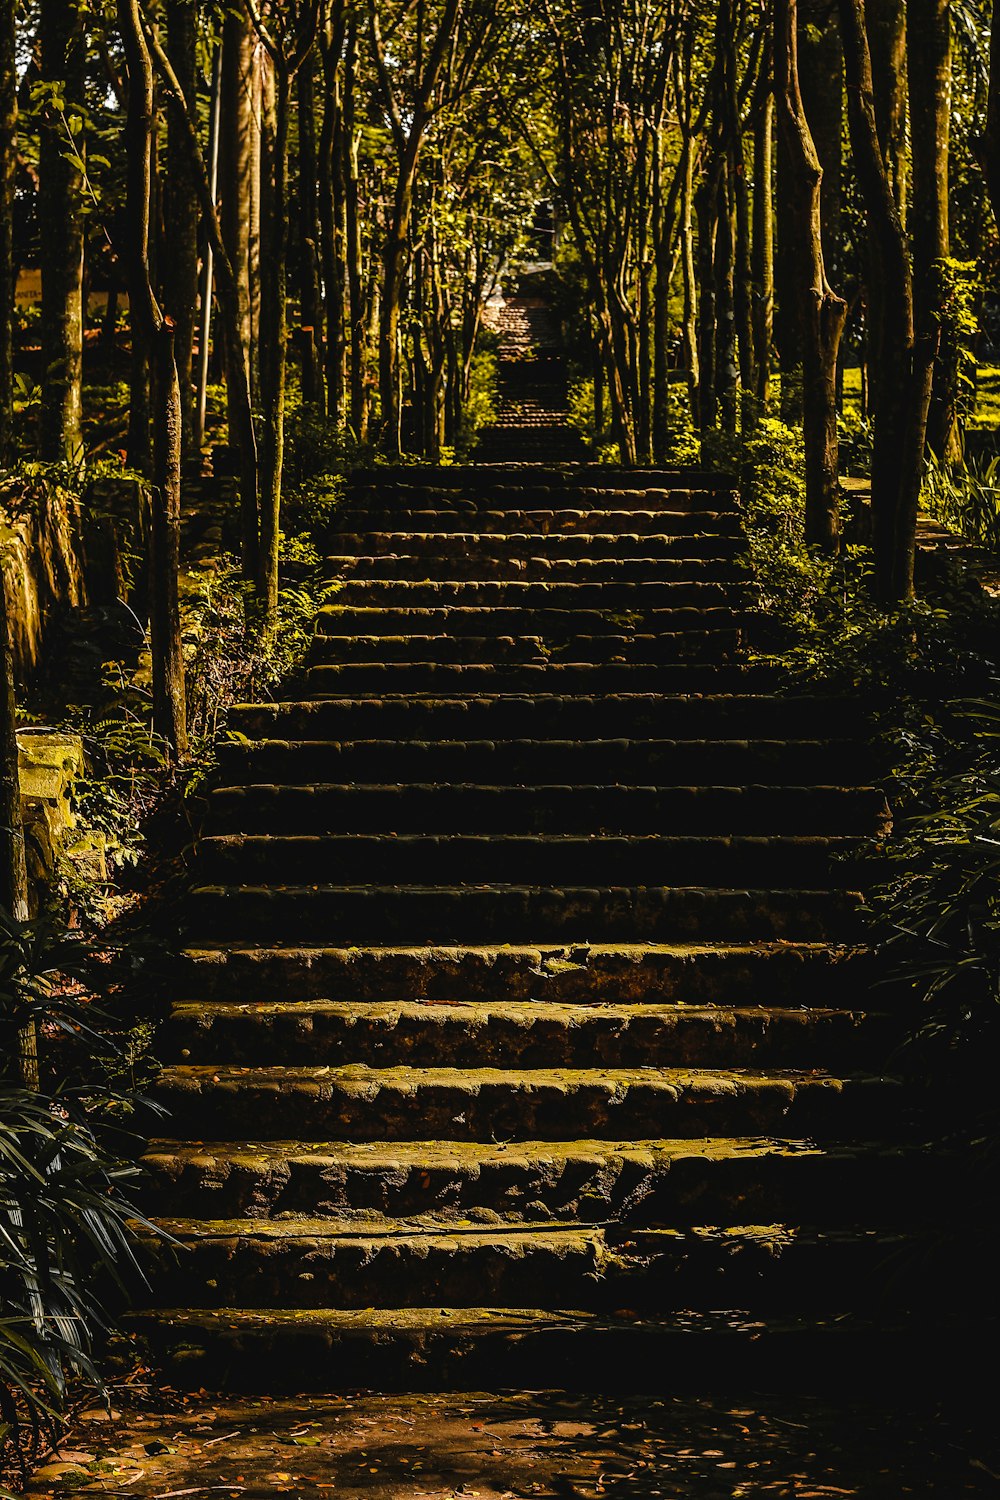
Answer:
[[[880,372],[871,466],[876,590],[882,600],[892,602],[913,592],[934,344],[915,339],[910,255],[879,142],[864,0],[840,0],[840,14],[847,117],[880,303],[871,350],[871,368]]]

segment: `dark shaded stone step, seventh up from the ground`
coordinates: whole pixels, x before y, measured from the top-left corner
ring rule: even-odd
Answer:
[[[258,942],[856,942],[861,892],[714,886],[199,885],[196,934]]]

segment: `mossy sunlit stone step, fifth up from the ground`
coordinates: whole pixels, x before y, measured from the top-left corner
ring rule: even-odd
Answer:
[[[181,1000],[160,1058],[375,1068],[883,1065],[898,1024],[819,1006],[730,1008],[556,1000]]]

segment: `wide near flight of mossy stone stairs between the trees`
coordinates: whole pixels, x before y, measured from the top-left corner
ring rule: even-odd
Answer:
[[[937,1358],[856,705],[745,660],[730,482],[384,470],[193,850],[136,1323],[258,1390]],[[877,992],[876,992],[877,993]],[[919,1278],[918,1278],[919,1282]],[[945,1336],[945,1335],[942,1335]]]

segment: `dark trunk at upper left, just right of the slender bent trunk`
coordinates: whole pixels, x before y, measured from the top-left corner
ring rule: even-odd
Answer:
[[[184,102],[192,116],[198,108],[198,14],[195,0],[169,0],[166,45]],[[169,172],[165,188],[166,254],[162,264],[163,306],[174,321],[174,354],[180,381],[183,448],[190,453],[195,435],[193,350],[198,318],[198,189],[178,140],[180,126],[166,122]]]

